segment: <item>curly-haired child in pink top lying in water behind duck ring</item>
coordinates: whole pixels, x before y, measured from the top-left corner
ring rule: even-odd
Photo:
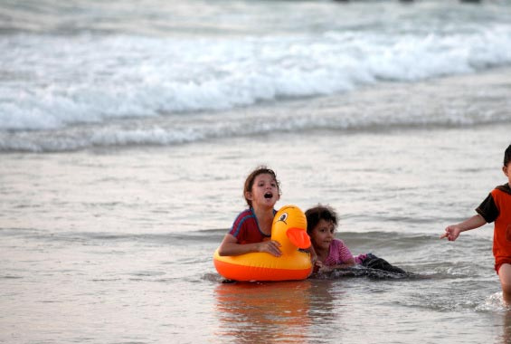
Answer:
[[[355,264],[393,273],[406,273],[372,253],[354,256],[345,243],[336,239],[337,214],[327,205],[317,205],[305,212],[307,233],[317,254],[315,272],[331,272]],[[359,275],[363,275],[360,273]]]

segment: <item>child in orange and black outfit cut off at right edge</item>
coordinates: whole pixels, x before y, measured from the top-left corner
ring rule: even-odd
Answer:
[[[495,222],[493,232],[493,255],[495,271],[500,279],[502,295],[506,304],[511,305],[511,145],[504,152],[502,171],[507,183],[494,188],[476,209],[477,215],[445,228],[440,239],[455,241],[461,232],[476,229],[487,223]]]

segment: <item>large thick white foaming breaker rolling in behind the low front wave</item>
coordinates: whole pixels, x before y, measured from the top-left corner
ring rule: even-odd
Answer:
[[[0,68],[0,130],[231,110],[466,74],[511,64],[508,46],[511,25],[504,24],[426,36],[2,37],[0,63],[9,69]],[[167,139],[179,140],[173,135]]]

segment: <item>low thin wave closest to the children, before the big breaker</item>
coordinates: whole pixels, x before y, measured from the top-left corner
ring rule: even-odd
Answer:
[[[465,101],[470,102],[472,99],[468,97]],[[316,130],[353,132],[443,129],[452,126],[508,123],[508,105],[502,104],[501,109],[496,110],[495,106],[483,109],[485,104],[473,103],[470,105],[472,109],[468,110],[460,104],[454,107],[440,104],[425,110],[421,108],[419,100],[405,103],[407,109],[384,101],[374,106],[361,102],[359,105],[345,105],[333,109],[310,109],[307,106],[296,109],[293,105],[291,108],[284,106],[279,110],[270,109],[266,112],[263,107],[258,110],[195,114],[177,119],[175,116],[158,116],[147,121],[125,119],[122,124],[105,122],[73,125],[63,129],[0,130],[0,151],[60,152],[89,148],[165,147],[206,140],[307,134]]]

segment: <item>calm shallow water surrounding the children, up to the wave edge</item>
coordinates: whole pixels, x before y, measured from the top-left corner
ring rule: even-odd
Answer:
[[[4,155],[0,302],[10,311],[1,339],[506,342],[491,225],[456,243],[438,236],[504,182],[509,129],[317,131],[308,133],[314,144],[285,134]],[[212,253],[261,157],[282,181],[278,206],[335,206],[352,252],[421,278],[222,284]]]

